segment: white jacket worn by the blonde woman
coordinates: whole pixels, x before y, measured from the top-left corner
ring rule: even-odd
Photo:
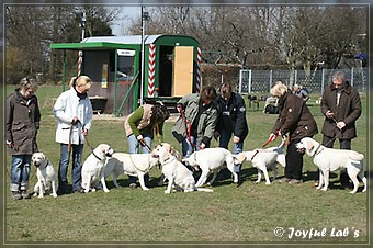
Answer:
[[[79,145],[84,143],[83,128],[90,129],[93,117],[92,104],[89,98],[80,99],[77,91],[71,88],[63,92],[53,106],[53,114],[57,119],[56,142],[69,144],[70,123],[77,116],[79,123],[72,126],[71,144]]]

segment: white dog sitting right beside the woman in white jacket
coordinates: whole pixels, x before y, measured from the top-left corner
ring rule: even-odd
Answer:
[[[92,192],[99,188],[100,180],[104,192],[109,192],[103,177],[103,167],[106,157],[111,157],[114,154],[114,149],[108,144],[98,145],[92,153],[87,157],[81,168],[81,187],[84,192]]]

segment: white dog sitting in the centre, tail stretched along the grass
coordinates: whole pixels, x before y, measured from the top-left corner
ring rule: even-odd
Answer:
[[[212,189],[201,189],[195,187],[195,181],[192,171],[190,171],[177,157],[169,153],[169,145],[158,145],[152,154],[159,157],[159,162],[162,166],[162,173],[168,179],[166,194],[171,193],[171,189],[183,192],[205,191],[213,192]]]

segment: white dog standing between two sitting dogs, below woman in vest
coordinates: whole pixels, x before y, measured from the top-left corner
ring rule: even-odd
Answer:
[[[151,154],[115,153],[106,160],[104,178],[112,174],[114,185],[120,188],[120,184],[116,182],[117,177],[123,173],[129,174],[138,178],[143,190],[149,190],[149,188],[145,185],[144,176],[156,165],[158,165],[158,158]]]

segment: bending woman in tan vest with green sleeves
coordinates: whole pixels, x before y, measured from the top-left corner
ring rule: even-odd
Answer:
[[[159,143],[163,142],[163,124],[170,117],[170,112],[162,103],[144,104],[128,115],[124,122],[124,129],[128,140],[129,154],[138,154],[138,146],[143,146],[143,154],[149,154],[154,131]],[[146,144],[146,145],[145,145]],[[129,176],[129,188],[136,188],[136,177]],[[145,181],[149,180],[146,174]]]

